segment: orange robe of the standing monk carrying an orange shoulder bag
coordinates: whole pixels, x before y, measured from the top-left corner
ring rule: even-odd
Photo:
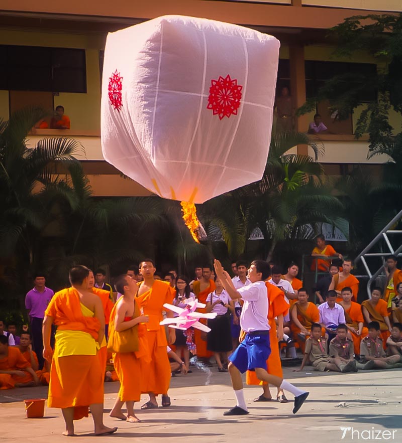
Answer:
[[[134,301],[136,308],[132,318],[140,315],[138,299]],[[114,329],[116,318],[117,304],[113,307],[110,316],[110,331]],[[128,322],[132,318],[125,318]],[[138,333],[138,351],[135,352],[114,352],[113,363],[117,377],[120,381],[119,398],[121,401],[139,401],[141,397],[141,380],[143,378],[141,359],[144,358],[146,363],[150,363],[151,359],[148,354],[148,346],[146,339],[145,325],[133,326]],[[112,378],[113,379],[113,378]],[[167,392],[167,391],[166,391]]]

